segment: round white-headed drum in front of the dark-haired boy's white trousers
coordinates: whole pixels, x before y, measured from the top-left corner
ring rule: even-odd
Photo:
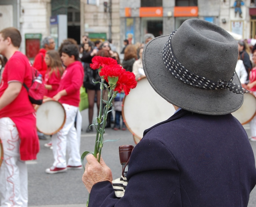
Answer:
[[[65,124],[66,112],[58,101],[51,98],[43,100],[42,105],[36,105],[36,127],[39,132],[52,135]]]

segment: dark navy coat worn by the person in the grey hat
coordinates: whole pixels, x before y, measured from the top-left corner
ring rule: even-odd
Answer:
[[[110,182],[95,184],[89,206],[247,206],[256,183],[254,154],[231,114],[182,109],[145,130],[131,153],[127,179],[121,199]]]

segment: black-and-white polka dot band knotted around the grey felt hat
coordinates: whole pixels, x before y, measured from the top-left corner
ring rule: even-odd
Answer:
[[[182,66],[182,64],[176,59],[171,47],[171,38],[173,37],[175,32],[176,31],[173,31],[171,33],[163,50],[163,59],[164,59],[165,67],[175,78],[177,78],[178,80],[181,80],[185,84],[189,84],[193,87],[198,87],[202,89],[218,90],[218,89],[228,88],[230,91],[232,91],[235,94],[250,93],[249,90],[244,89],[240,85],[232,83],[235,72],[229,81],[218,80],[218,82],[216,83],[213,80],[206,79],[203,76],[194,74],[193,72],[189,71],[184,66]]]

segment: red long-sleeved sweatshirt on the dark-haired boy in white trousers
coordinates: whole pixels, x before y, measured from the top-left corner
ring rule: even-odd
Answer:
[[[62,104],[68,104],[78,107],[80,102],[80,87],[84,80],[84,68],[79,61],[75,61],[68,65],[64,71],[58,92],[66,90],[67,95],[62,96],[59,100]]]

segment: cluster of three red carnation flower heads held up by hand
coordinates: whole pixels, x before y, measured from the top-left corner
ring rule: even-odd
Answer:
[[[137,81],[134,73],[125,71],[125,69],[117,64],[117,61],[110,57],[95,56],[92,58],[92,69],[100,69],[99,75],[104,77],[110,87],[119,93],[124,90],[128,95],[130,89],[135,88]]]

